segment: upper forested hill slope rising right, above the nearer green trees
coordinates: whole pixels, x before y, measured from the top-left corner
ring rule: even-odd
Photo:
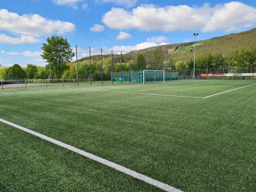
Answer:
[[[221,55],[231,55],[235,50],[252,49],[256,47],[256,28],[248,31],[231,33],[221,37],[215,37],[197,42],[197,55],[208,52]],[[193,58],[194,42],[167,44],[157,47],[141,49],[139,52],[148,52],[155,49],[162,49],[173,55],[175,61],[189,61]]]

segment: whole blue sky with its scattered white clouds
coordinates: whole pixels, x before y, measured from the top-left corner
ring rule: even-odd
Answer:
[[[127,52],[255,26],[255,0],[0,0],[0,64],[44,65],[48,35]]]

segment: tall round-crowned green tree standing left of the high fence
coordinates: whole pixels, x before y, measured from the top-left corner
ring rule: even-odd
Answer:
[[[68,69],[67,63],[72,61],[75,53],[70,48],[70,44],[67,39],[62,36],[52,35],[47,38],[47,43],[43,44],[42,58],[46,60],[55,78],[60,79],[64,70]]]

